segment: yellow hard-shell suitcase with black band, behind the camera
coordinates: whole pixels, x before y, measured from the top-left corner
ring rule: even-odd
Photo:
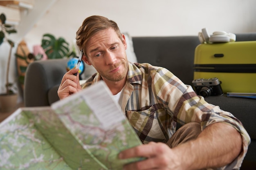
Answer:
[[[199,44],[194,79],[213,77],[224,93],[256,93],[256,41]]]

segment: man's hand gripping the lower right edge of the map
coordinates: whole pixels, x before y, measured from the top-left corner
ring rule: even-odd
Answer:
[[[124,170],[182,170],[178,155],[164,143],[150,142],[120,152],[120,159],[145,157],[143,161],[129,163]]]

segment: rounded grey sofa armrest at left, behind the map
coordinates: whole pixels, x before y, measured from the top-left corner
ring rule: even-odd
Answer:
[[[68,59],[40,60],[29,64],[25,76],[26,107],[49,106],[48,91],[61,83]]]

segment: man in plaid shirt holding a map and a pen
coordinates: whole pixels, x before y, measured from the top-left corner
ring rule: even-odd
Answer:
[[[98,72],[83,88],[106,82],[144,143],[120,152],[120,159],[147,158],[125,170],[239,169],[250,142],[240,121],[205,102],[165,68],[129,63],[125,36],[115,22],[86,18],[76,32],[76,43],[83,60]],[[60,99],[81,91],[77,71],[63,76]],[[175,121],[185,124],[177,132]]]

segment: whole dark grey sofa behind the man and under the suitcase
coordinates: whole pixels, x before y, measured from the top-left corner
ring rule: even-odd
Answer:
[[[236,34],[237,41],[256,40],[256,33]],[[173,72],[185,84],[193,80],[197,36],[133,37],[134,52],[140,63],[148,62]],[[25,77],[25,106],[49,106],[58,100],[57,89],[66,73],[67,59],[37,61],[29,64]],[[220,106],[242,121],[252,142],[241,169],[256,168],[256,100],[223,96],[210,96],[206,101]],[[224,144],[225,145],[225,144]]]

